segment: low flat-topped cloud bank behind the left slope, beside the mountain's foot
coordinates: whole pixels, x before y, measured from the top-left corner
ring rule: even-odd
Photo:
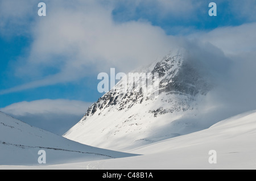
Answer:
[[[91,104],[79,100],[43,99],[14,103],[0,111],[32,126],[61,135],[80,121]]]

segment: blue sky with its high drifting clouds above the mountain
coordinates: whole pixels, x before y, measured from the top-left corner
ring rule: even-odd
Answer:
[[[45,17],[37,14],[39,2],[0,0],[0,108],[44,99],[95,102],[101,71],[150,64],[179,38],[230,55],[242,49],[232,36],[243,39],[256,22],[253,0],[47,0]],[[208,15],[209,2],[216,2],[217,16]],[[254,47],[254,37],[244,40],[243,50]]]

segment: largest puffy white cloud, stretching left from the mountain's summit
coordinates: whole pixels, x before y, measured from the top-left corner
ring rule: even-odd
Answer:
[[[16,77],[31,82],[0,94],[77,81],[110,68],[131,71],[168,53],[173,45],[174,37],[149,22],[115,23],[112,6],[76,2],[46,2],[47,16],[32,23],[28,56],[16,62]]]

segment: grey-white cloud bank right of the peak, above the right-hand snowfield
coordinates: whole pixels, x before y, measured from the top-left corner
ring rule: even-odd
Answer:
[[[256,35],[254,30],[256,30],[256,23],[247,23],[189,35],[190,41],[200,39],[205,44],[212,44],[214,48],[208,49],[211,53],[225,54],[212,61],[213,67],[220,71],[216,79],[217,86],[208,94],[208,106],[215,104],[217,107],[214,115],[209,116],[225,115],[228,117],[256,109]],[[225,65],[223,57],[230,60],[230,64],[225,68],[220,64],[223,62]],[[206,60],[211,58],[210,53],[208,57],[205,56]]]

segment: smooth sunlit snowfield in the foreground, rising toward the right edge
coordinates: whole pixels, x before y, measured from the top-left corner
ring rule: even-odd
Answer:
[[[7,148],[1,144],[1,152],[3,146]],[[216,150],[217,163],[209,163],[212,156],[209,150]],[[222,120],[203,131],[127,151],[142,155],[86,162],[71,159],[59,165],[0,166],[0,169],[256,169],[256,111]],[[1,153],[1,161],[2,158]]]

